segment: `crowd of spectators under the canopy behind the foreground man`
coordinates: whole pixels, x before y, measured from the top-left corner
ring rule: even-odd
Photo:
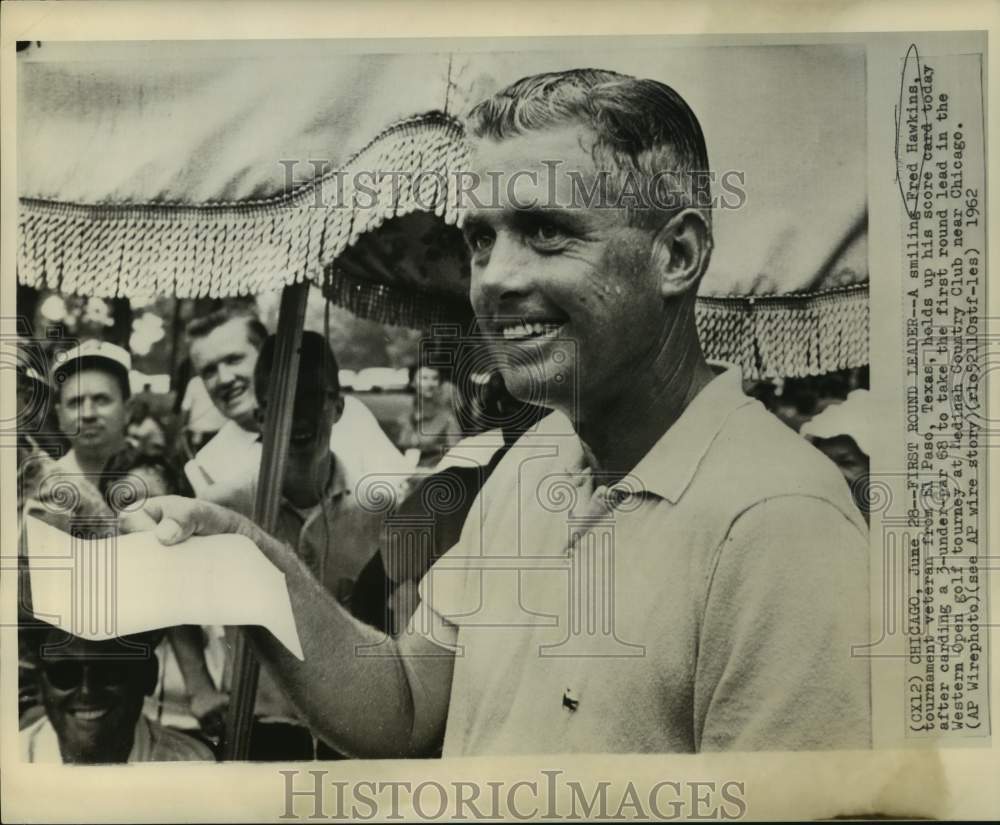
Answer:
[[[198,318],[187,335],[179,425],[155,411],[148,385],[131,395],[130,355],[114,344],[84,341],[49,375],[19,370],[21,514],[88,537],[114,533],[122,508],[166,494],[253,517],[274,336],[243,310]],[[415,610],[417,582],[457,542],[485,479],[544,411],[515,401],[499,375],[456,388],[438,367],[417,365],[409,409],[386,422],[396,434],[393,443],[363,401],[342,391],[338,375],[326,339],[304,332],[274,535],[355,617],[398,634]],[[855,370],[745,388],[841,467],[862,508],[866,383],[864,372]],[[65,439],[61,447],[33,436],[45,429],[41,419],[50,413]],[[490,430],[485,441],[484,430]],[[463,453],[466,444],[479,449]],[[421,552],[401,559],[384,546],[388,510],[365,507],[358,495],[360,480],[374,476],[396,491],[395,515],[435,522]],[[459,506],[435,512],[433,498],[420,495],[439,481],[459,491]],[[69,507],[60,493],[66,483],[75,492]],[[366,555],[351,548],[381,550]],[[179,626],[96,642],[25,613],[22,757],[80,763],[216,758],[232,687],[233,632]],[[250,742],[254,761],[342,758],[310,729],[267,670]]]

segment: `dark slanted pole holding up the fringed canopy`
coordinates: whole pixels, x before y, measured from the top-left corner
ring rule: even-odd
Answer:
[[[257,500],[254,504],[254,521],[272,535],[278,522],[281,481],[285,475],[285,458],[292,432],[295,385],[299,377],[299,348],[308,297],[308,281],[286,286],[281,293],[274,367],[271,370],[267,417],[264,420],[264,448],[257,476]],[[240,631],[236,635],[233,651],[232,692],[223,739],[223,758],[226,760],[246,759],[249,753],[259,675],[260,664],[253,654],[246,633]]]

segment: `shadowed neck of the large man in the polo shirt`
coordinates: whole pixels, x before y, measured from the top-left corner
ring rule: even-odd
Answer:
[[[608,480],[630,472],[714,377],[695,344],[672,365],[634,373],[628,391],[582,407],[575,426],[591,468]]]

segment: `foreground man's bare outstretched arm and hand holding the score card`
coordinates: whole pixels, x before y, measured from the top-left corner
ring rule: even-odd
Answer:
[[[446,647],[415,633],[397,641],[358,621],[290,547],[232,511],[167,496],[150,499],[144,513],[144,526],[155,523],[164,544],[194,534],[239,533],[285,574],[304,661],[268,631],[248,630],[261,661],[331,745],[358,757],[406,757],[429,754],[440,744],[454,666]],[[366,649],[377,655],[362,655]]]

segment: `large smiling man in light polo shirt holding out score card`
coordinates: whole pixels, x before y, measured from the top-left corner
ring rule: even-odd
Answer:
[[[256,632],[258,649],[346,752],[868,747],[865,525],[698,340],[694,113],[583,69],[525,78],[468,125],[472,303],[511,394],[554,412],[490,476],[408,632],[379,640],[231,513],[154,501],[161,540],[240,532],[281,567],[305,661]]]

